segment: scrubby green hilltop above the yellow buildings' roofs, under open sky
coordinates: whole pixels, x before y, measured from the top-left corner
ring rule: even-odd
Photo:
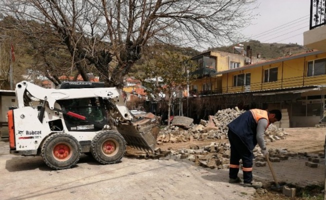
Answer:
[[[290,52],[291,54],[299,53],[299,52],[305,52],[309,50],[309,48],[289,43],[261,43],[258,40],[249,40],[241,42],[243,44],[244,50],[246,50],[246,46],[250,46],[252,49],[252,56],[256,56],[257,53],[261,55],[261,58],[265,59],[273,59],[276,57],[282,57],[286,54],[286,52]],[[207,50],[217,50],[217,51],[224,51],[224,52],[230,52],[233,53],[233,46],[238,46],[238,44],[230,45],[230,46],[221,46],[221,47],[214,47],[214,48],[208,48]],[[235,51],[234,53],[238,53]]]

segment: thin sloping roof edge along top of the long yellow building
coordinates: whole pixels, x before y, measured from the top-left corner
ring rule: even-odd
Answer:
[[[218,75],[218,74],[224,74],[224,73],[229,73],[229,72],[243,70],[243,69],[259,67],[259,66],[263,66],[263,65],[268,65],[268,64],[272,64],[272,63],[276,63],[276,62],[291,60],[291,59],[300,58],[300,57],[305,57],[305,56],[309,56],[309,55],[315,55],[315,54],[319,54],[319,53],[323,53],[323,51],[317,50],[317,49],[312,49],[312,50],[309,50],[309,51],[306,51],[306,52],[296,53],[296,54],[288,55],[288,56],[285,56],[285,57],[278,57],[278,58],[275,58],[275,59],[272,59],[272,60],[266,60],[266,61],[263,61],[263,62],[249,64],[249,65],[245,65],[245,66],[238,67],[238,68],[228,69],[228,70],[224,70],[224,71],[218,71],[218,72],[216,72],[214,74],[211,74],[211,75]]]

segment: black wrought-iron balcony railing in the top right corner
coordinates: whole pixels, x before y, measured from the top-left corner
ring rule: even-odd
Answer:
[[[310,30],[326,24],[326,0],[310,0]]]

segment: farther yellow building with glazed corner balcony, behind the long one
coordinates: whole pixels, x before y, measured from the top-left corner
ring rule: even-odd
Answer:
[[[247,50],[250,47],[247,47]],[[194,74],[197,79],[190,85],[190,94],[214,94],[221,93],[221,78],[212,74],[219,71],[242,67],[246,64],[260,62],[260,58],[250,58],[250,53],[235,54],[221,51],[207,51],[191,58],[197,62],[197,70]]]

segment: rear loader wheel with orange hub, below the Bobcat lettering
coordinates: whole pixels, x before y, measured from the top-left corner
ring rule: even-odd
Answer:
[[[72,135],[54,133],[42,144],[41,156],[52,169],[65,169],[75,165],[80,158],[81,147]]]

